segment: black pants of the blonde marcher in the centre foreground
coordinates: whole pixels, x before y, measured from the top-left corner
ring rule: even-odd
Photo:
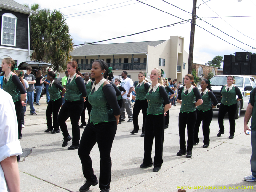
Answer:
[[[136,101],[137,102],[137,101]],[[152,164],[151,152],[155,138],[154,167],[161,167],[163,163],[164,143],[164,114],[146,116],[145,137],[144,137],[144,159],[143,164]]]

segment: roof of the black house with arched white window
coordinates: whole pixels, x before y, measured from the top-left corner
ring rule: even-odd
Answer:
[[[25,7],[22,4],[17,3],[16,1],[13,0],[0,0],[0,8],[1,9],[7,9],[10,11],[15,11],[15,12],[20,12],[24,14],[32,13],[32,15],[38,15],[38,12],[35,12],[28,7]]]

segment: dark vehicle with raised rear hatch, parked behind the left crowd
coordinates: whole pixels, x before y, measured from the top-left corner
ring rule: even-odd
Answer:
[[[42,67],[48,67],[48,68],[52,67],[52,65],[49,64],[49,63],[37,60],[37,61],[24,61],[24,62],[20,63],[20,65],[18,66],[18,69],[21,69],[26,73],[26,71],[27,71],[26,67],[27,66],[32,67],[31,74],[33,74],[35,77],[36,77],[36,72],[38,70],[41,70]],[[45,87],[42,89],[40,98],[43,97],[44,94],[46,94],[46,88]],[[35,95],[34,95],[34,102],[36,102],[36,90],[35,90]]]

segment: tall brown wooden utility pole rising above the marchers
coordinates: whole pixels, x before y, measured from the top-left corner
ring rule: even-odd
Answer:
[[[196,0],[193,0],[193,11],[192,11],[190,43],[189,43],[189,56],[188,56],[188,74],[192,74],[195,27],[196,27]]]

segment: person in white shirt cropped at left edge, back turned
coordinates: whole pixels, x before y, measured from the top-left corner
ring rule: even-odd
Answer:
[[[20,192],[17,155],[22,154],[12,96],[0,89],[0,191]],[[4,98],[4,99],[3,99]]]

